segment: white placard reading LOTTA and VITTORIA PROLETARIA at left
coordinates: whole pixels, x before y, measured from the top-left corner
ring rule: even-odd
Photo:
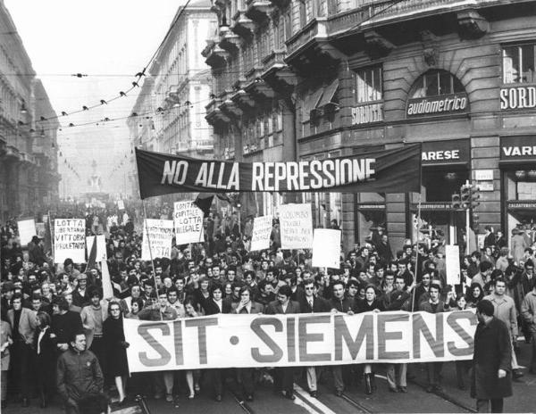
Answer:
[[[86,219],[54,219],[54,263],[86,261]]]

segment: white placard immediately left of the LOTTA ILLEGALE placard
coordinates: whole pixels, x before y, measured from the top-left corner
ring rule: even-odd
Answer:
[[[148,235],[147,236],[147,231]],[[151,250],[149,251],[149,237]],[[150,261],[157,257],[172,257],[173,221],[146,219],[143,224],[143,240],[141,244],[141,260]]]

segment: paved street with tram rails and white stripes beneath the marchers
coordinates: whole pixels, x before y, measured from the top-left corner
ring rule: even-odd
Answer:
[[[529,345],[521,345],[520,364],[526,366],[530,358]],[[301,414],[301,413],[356,413],[356,412],[474,412],[474,400],[469,395],[469,389],[461,391],[456,387],[456,372],[454,363],[443,367],[443,393],[426,393],[426,371],[423,365],[411,366],[410,372],[414,379],[408,384],[408,393],[389,393],[384,368],[378,368],[378,391],[371,396],[364,394],[362,385],[350,385],[342,398],[337,397],[331,389],[331,377],[326,375],[323,384],[319,386],[318,398],[309,396],[304,388],[305,378],[298,378],[296,385],[297,398],[289,402],[279,395],[274,395],[268,385],[259,385],[254,402],[239,403],[230,393],[226,393],[222,402],[214,402],[202,392],[195,400],[181,397],[176,406],[163,400],[148,399],[147,405],[152,414],[186,412],[192,414],[234,413],[247,412],[254,414]],[[466,378],[466,385],[469,378]],[[514,397],[505,400],[505,412],[532,412],[536,407],[536,376],[526,373],[519,382],[514,383]],[[132,404],[133,405],[133,404]],[[125,414],[127,411],[123,410]],[[38,408],[37,400],[32,406],[22,409],[10,402],[5,414],[53,414],[63,412],[58,403],[42,410]]]

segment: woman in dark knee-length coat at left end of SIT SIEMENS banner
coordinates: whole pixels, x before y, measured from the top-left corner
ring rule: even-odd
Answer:
[[[115,380],[115,386],[119,393],[119,405],[121,406],[126,399],[127,376],[129,375],[126,349],[129,347],[129,343],[125,341],[119,302],[110,302],[108,313],[110,316],[103,323],[105,355],[108,363],[108,375]]]

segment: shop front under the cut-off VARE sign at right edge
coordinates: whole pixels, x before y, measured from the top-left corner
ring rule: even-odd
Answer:
[[[536,241],[536,136],[500,137],[503,228],[511,239],[522,230],[527,244]]]

